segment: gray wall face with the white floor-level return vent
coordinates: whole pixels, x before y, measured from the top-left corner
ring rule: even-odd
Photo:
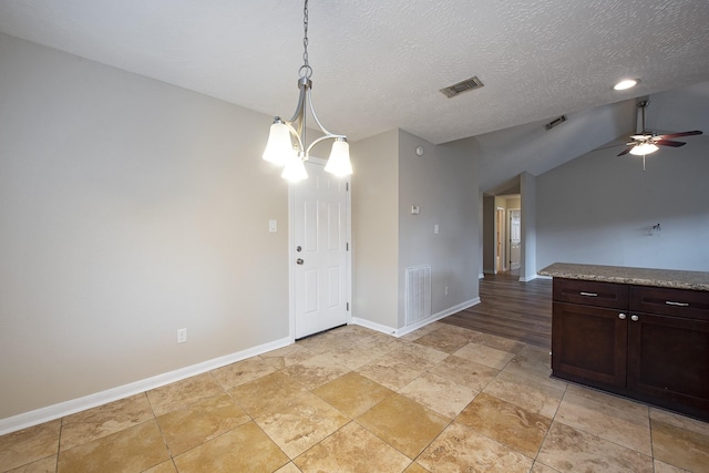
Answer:
[[[417,155],[422,146],[424,154]],[[399,132],[399,317],[405,325],[405,270],[431,266],[431,313],[477,298],[477,174],[474,140],[435,146]],[[419,206],[419,215],[411,206]],[[434,225],[439,234],[434,234]],[[445,287],[449,288],[445,295]]]

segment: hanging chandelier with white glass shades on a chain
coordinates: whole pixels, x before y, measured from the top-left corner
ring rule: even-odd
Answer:
[[[282,120],[280,116],[274,119],[263,157],[268,162],[284,166],[281,177],[297,182],[308,177],[304,163],[308,161],[312,147],[325,140],[335,140],[325,171],[337,176],[347,176],[352,174],[350,147],[347,143],[347,136],[328,132],[318,120],[318,116],[315,114],[315,109],[312,107],[312,81],[310,80],[312,68],[308,63],[308,0],[305,0],[302,9],[302,29],[304,64],[298,71],[300,75],[298,79],[298,89],[300,89],[298,106],[290,120]],[[308,109],[310,110],[312,119],[323,133],[322,136],[309,145],[307,145],[306,141],[306,114]]]

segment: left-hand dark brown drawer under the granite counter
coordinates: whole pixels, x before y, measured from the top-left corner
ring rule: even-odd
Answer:
[[[584,306],[628,308],[628,286],[579,279],[554,278],[554,300]]]

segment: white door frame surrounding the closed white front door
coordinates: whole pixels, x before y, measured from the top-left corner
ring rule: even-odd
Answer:
[[[306,162],[306,165],[308,164],[325,166],[327,164],[327,160],[310,156]],[[352,322],[352,181],[350,176],[342,177],[342,179],[348,185],[348,191],[345,193],[345,236],[348,245],[346,255],[347,268],[345,270],[345,290],[347,292],[346,297],[348,300],[347,323],[350,325]],[[290,339],[291,343],[296,341],[296,278],[294,270],[294,265],[296,261],[296,226],[294,224],[296,215],[297,185],[298,183],[288,183],[288,338]]]

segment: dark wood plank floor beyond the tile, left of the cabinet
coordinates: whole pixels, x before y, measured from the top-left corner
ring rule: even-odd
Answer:
[[[552,280],[520,282],[515,273],[485,275],[481,304],[440,321],[484,333],[552,347]]]

